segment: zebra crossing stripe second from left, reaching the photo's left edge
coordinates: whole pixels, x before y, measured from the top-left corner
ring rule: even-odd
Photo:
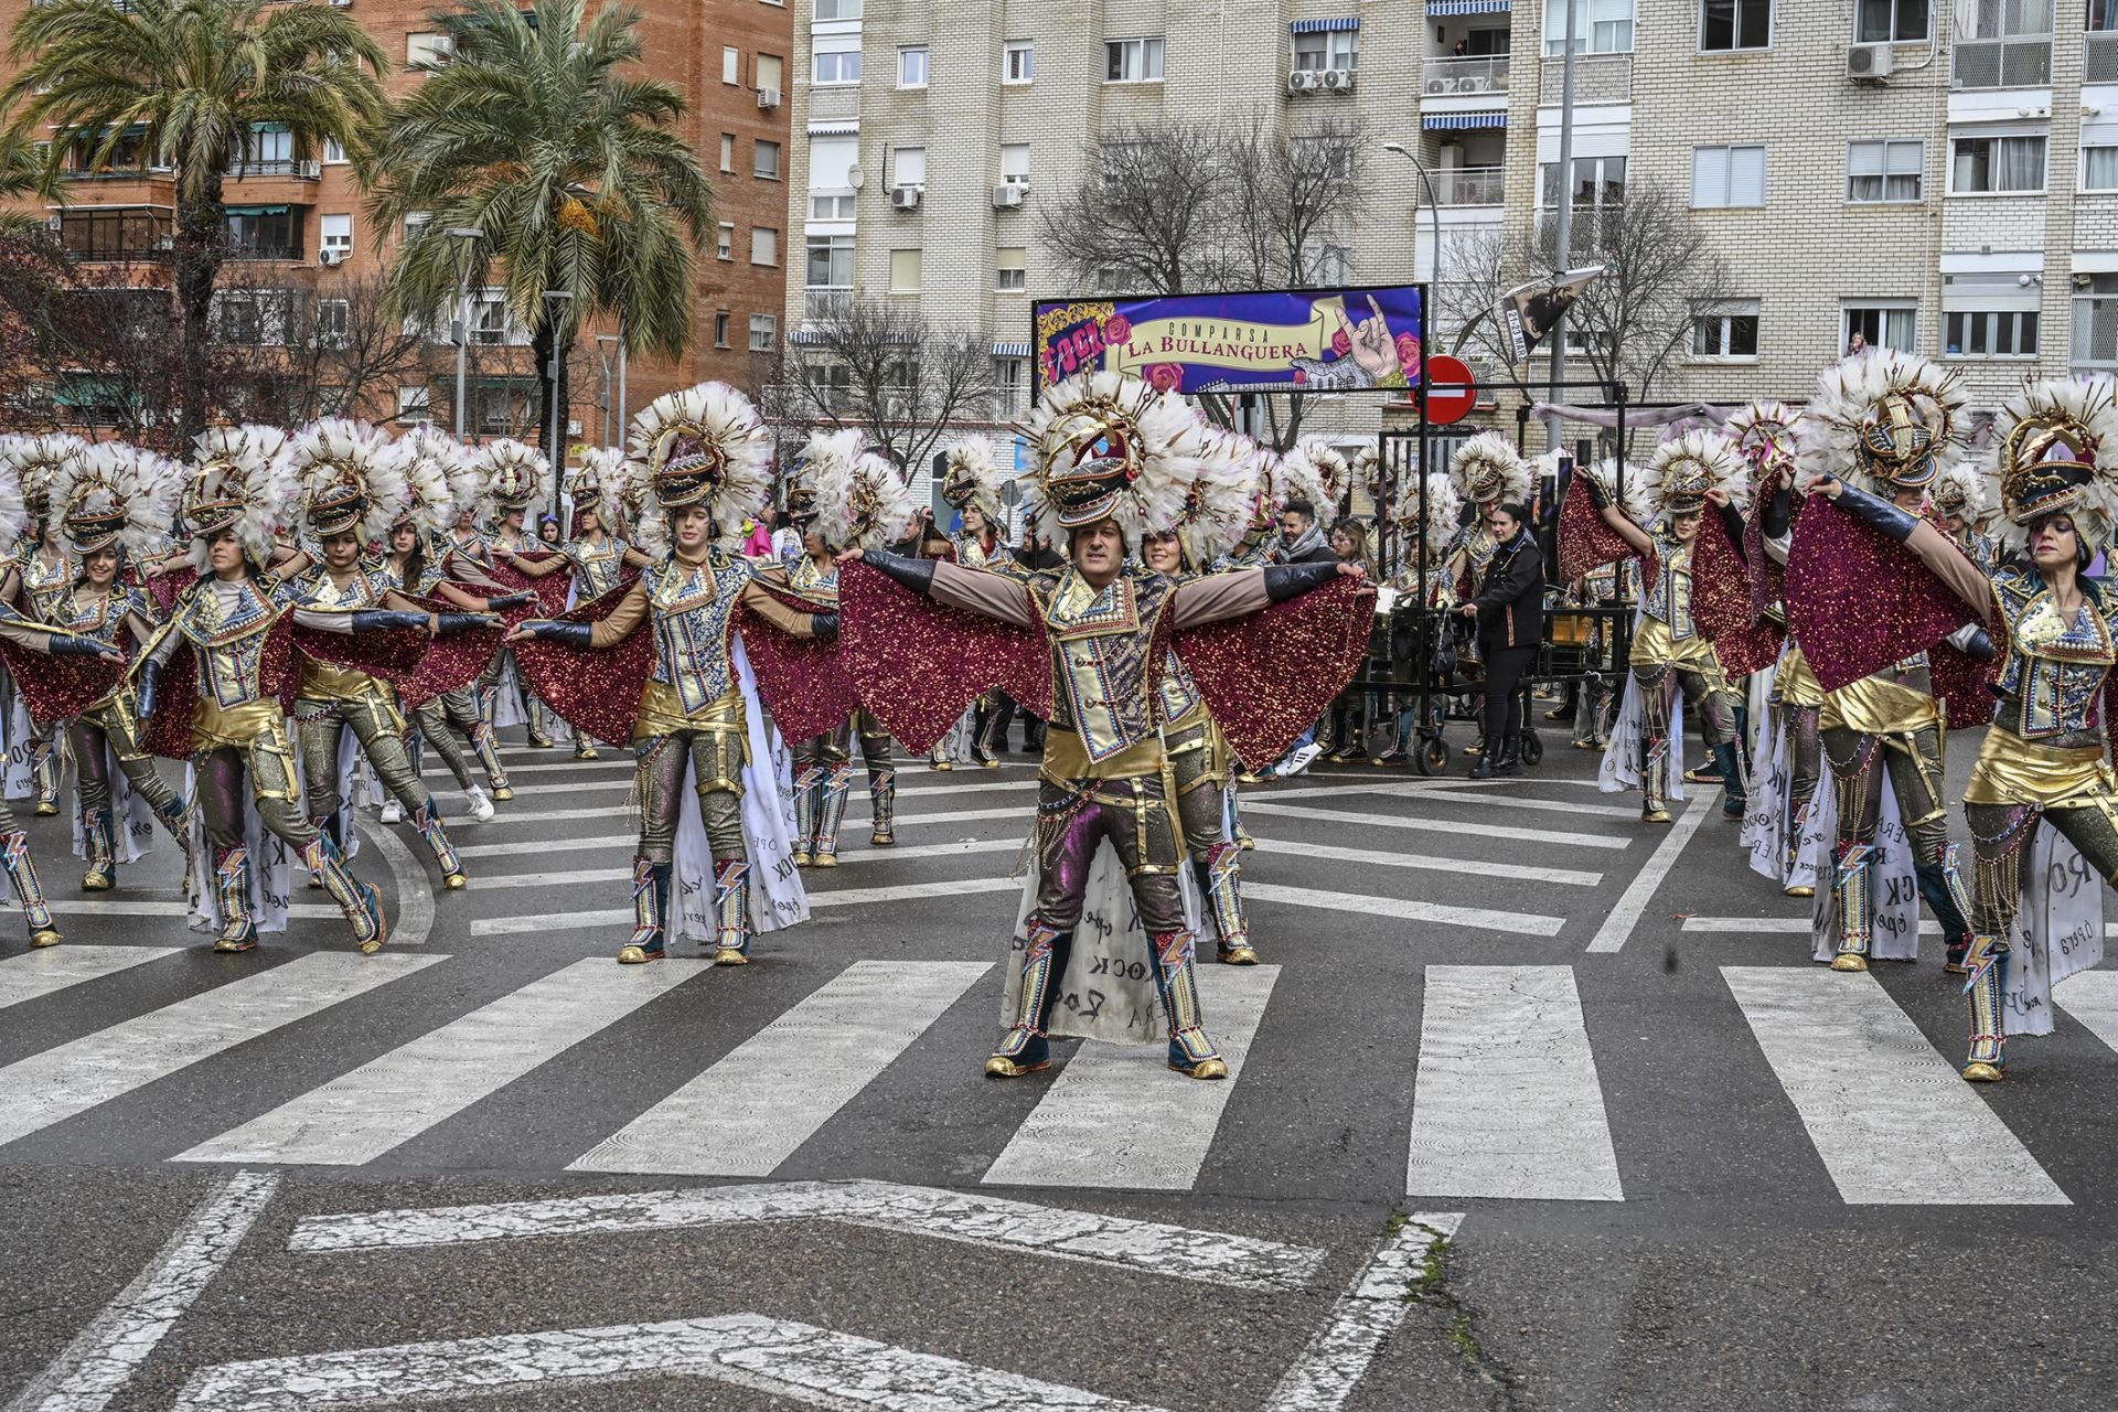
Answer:
[[[320,951],[32,1054],[0,1069],[0,1145],[436,961]]]

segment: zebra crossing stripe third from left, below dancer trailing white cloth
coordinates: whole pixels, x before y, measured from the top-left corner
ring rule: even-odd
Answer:
[[[574,961],[176,1160],[373,1162],[705,970]]]

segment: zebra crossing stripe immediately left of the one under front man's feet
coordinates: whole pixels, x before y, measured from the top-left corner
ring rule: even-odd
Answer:
[[[769,1177],[989,970],[854,961],[568,1171]]]

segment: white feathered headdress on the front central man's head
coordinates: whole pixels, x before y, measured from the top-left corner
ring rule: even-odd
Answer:
[[[1173,392],[1123,373],[1076,373],[1038,398],[1017,474],[1046,540],[1114,519],[1129,542],[1175,525],[1192,478],[1199,415]]]

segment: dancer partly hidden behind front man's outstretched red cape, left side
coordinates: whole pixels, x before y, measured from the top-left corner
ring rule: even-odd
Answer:
[[[896,468],[862,447],[860,432],[818,432],[803,453],[790,506],[803,533],[803,557],[788,565],[788,586],[815,612],[837,614],[839,555],[879,546],[890,527],[911,514],[913,497]],[[839,821],[854,790],[856,735],[868,768],[868,843],[890,847],[898,840],[898,771],[890,760],[890,732],[860,707],[792,747],[794,862],[801,866],[839,866]]]

